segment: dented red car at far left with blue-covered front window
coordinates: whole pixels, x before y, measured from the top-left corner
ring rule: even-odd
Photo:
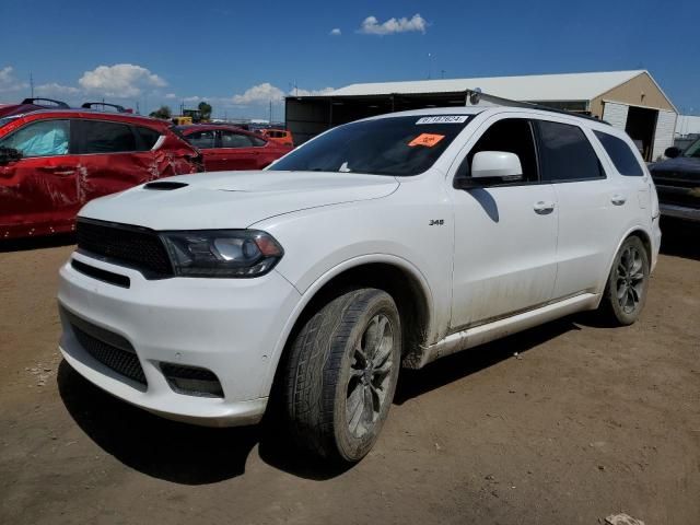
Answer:
[[[170,122],[89,109],[0,106],[0,240],[68,232],[91,199],[202,171]]]

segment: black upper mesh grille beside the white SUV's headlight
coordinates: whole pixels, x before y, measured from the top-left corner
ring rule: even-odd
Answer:
[[[132,267],[147,279],[174,275],[163,242],[151,230],[79,219],[75,232],[82,252]]]

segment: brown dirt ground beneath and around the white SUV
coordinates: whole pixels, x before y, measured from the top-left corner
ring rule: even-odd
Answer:
[[[339,471],[86,383],[56,348],[71,246],[5,246],[0,523],[697,525],[700,231],[665,224],[662,250],[641,322],[574,316],[402,373],[376,447]]]

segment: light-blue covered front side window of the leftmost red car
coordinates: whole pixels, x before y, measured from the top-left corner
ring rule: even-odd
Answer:
[[[0,148],[14,148],[22,156],[67,155],[69,141],[69,120],[40,120],[0,140]]]

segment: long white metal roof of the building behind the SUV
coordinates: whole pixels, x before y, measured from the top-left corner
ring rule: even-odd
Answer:
[[[635,70],[374,82],[351,84],[332,91],[326,96],[388,95],[392,93],[450,93],[480,88],[483,93],[488,93],[489,95],[514,101],[590,101],[642,73],[648,72],[645,70]]]

